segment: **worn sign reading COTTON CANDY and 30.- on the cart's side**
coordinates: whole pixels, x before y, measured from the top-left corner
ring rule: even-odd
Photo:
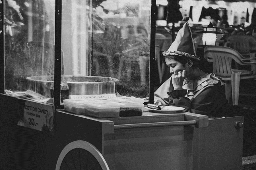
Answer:
[[[35,101],[19,99],[18,126],[39,131],[52,131],[54,106]]]

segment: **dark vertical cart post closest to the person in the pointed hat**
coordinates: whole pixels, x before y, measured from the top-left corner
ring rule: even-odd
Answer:
[[[154,103],[156,62],[156,0],[151,0],[151,28],[150,28],[150,66],[149,66],[149,103]]]

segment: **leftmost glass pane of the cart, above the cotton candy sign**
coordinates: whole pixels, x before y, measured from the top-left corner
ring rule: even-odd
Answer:
[[[6,0],[5,18],[5,93],[53,103],[55,0]]]

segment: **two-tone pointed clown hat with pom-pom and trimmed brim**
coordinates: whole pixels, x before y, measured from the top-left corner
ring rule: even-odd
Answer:
[[[178,31],[175,41],[172,42],[168,51],[163,52],[164,56],[185,55],[187,57],[200,60],[200,58],[196,56],[195,45],[193,43],[190,26],[187,22],[188,20],[189,17],[183,18],[183,21],[186,21],[186,23]]]

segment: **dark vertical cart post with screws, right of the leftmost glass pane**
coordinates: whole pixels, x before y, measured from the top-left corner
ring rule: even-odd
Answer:
[[[61,12],[62,1],[55,1],[55,47],[54,47],[54,105],[60,108],[61,99]]]

